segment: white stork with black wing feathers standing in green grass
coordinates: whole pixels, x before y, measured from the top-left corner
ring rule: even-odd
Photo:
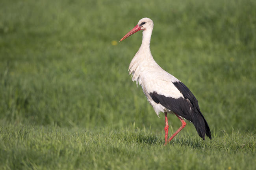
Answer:
[[[163,70],[152,57],[150,38],[153,27],[150,18],[142,18],[120,41],[143,30],[142,44],[130,63],[129,74],[132,75],[132,81],[141,85],[156,114],[165,113],[165,145],[186,126],[183,118],[194,124],[202,139],[205,134],[211,139],[210,128],[200,112],[195,96],[180,80]],[[180,128],[169,139],[167,113],[174,113],[182,122]]]

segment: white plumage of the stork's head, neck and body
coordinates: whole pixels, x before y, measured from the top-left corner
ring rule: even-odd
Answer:
[[[174,99],[183,97],[183,95],[172,83],[178,81],[178,79],[163,70],[156,63],[150,52],[150,39],[154,27],[153,21],[150,18],[142,18],[139,20],[138,25],[141,22],[146,22],[147,29],[143,31],[141,47],[130,63],[129,74],[132,75],[132,81],[136,81],[141,85],[148,102],[153,106],[156,114],[159,115],[159,112],[164,112],[165,108],[161,104],[154,102],[149,93],[156,91],[158,94],[173,97]]]

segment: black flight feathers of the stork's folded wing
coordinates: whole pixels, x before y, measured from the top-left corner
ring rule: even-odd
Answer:
[[[173,84],[182,93],[184,98],[180,97],[178,99],[174,99],[172,97],[160,95],[154,91],[150,93],[152,100],[156,103],[160,103],[165,108],[193,122],[198,135],[203,139],[205,134],[211,139],[210,128],[204,119],[204,116],[200,112],[198,101],[195,96],[182,82],[178,81],[174,82]]]

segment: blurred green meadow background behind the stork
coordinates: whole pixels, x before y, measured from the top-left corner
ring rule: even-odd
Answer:
[[[154,59],[197,97],[213,137],[255,133],[255,0],[2,0],[2,128],[132,126],[164,139],[163,114],[128,75],[141,32],[118,42],[143,17]],[[181,133],[198,137],[192,124]]]

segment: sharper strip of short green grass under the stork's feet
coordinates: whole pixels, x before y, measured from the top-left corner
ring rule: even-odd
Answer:
[[[239,132],[206,142],[183,134],[167,146],[162,135],[132,126],[87,132],[7,125],[0,132],[1,169],[254,169],[255,136]]]

